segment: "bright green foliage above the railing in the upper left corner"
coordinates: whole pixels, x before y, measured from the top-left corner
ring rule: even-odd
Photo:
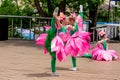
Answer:
[[[4,0],[0,6],[1,15],[32,16],[33,10],[28,0],[21,0],[20,5],[15,0]]]

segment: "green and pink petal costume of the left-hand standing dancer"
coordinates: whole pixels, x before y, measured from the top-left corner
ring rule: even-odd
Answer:
[[[53,15],[55,15],[53,13]],[[58,36],[60,32],[66,32],[64,27],[59,29],[58,19],[54,16],[51,20],[51,28],[48,30],[47,34],[41,34],[36,41],[36,44],[41,43],[44,45],[44,51],[48,51],[51,55],[51,69],[52,73],[56,72],[56,59],[63,61],[66,59],[66,54],[64,52],[63,40]],[[45,35],[44,37],[42,37]],[[41,43],[39,45],[41,45]]]

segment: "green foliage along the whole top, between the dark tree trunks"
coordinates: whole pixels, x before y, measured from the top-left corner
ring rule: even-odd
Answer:
[[[84,17],[88,16],[88,7],[102,4],[104,0],[66,0],[66,7],[71,12],[79,12],[79,5],[84,7]],[[39,0],[40,6],[47,16],[52,16],[55,7],[60,7],[61,0]],[[21,0],[19,11],[15,0],[4,0],[0,7],[0,14],[32,16],[35,9],[34,0]],[[11,7],[12,6],[12,7]],[[87,13],[86,13],[87,12]],[[66,13],[68,13],[66,11]]]

